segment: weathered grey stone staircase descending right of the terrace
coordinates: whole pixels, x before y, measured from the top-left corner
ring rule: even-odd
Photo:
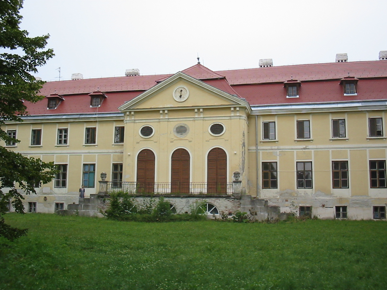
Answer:
[[[257,220],[285,220],[288,218],[288,213],[281,213],[279,206],[268,205],[267,200],[252,198],[251,195],[241,195],[241,212],[256,212]]]

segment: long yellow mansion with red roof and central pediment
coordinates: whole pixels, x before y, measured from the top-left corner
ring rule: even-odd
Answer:
[[[385,219],[387,52],[351,61],[47,82],[2,144],[55,162],[24,195],[55,212],[109,191],[166,196],[177,212],[270,208],[319,218]],[[106,173],[106,192],[100,173]],[[105,178],[103,178],[105,179]],[[102,186],[103,188],[103,186]],[[71,206],[70,206],[71,207]],[[74,206],[73,206],[74,207]],[[11,209],[12,210],[12,209]]]

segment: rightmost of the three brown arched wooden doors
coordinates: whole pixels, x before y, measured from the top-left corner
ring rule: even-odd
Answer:
[[[222,148],[208,152],[207,193],[227,193],[227,155]]]

